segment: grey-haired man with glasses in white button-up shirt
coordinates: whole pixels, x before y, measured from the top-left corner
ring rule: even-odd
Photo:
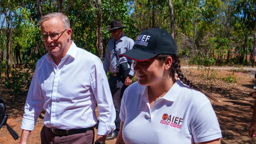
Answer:
[[[115,129],[116,114],[102,62],[70,40],[67,16],[49,13],[38,23],[49,52],[37,61],[24,107],[20,143],[26,143],[44,108],[43,144],[92,144],[96,102],[99,124],[95,144],[104,143]]]

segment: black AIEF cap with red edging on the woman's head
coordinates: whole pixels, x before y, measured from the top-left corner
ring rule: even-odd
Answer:
[[[135,61],[147,61],[158,54],[177,54],[177,45],[173,37],[160,28],[142,31],[137,37],[132,50],[119,57],[128,57]]]

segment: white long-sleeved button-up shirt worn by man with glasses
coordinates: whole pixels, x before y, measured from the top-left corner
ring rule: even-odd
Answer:
[[[92,127],[97,123],[95,102],[98,135],[107,135],[115,129],[116,114],[102,62],[72,42],[58,66],[50,53],[37,61],[21,128],[33,130],[42,108],[46,127]]]

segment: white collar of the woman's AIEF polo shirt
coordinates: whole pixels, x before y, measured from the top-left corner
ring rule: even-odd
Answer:
[[[182,81],[178,78],[176,80],[176,82],[173,84],[173,86],[171,87],[171,89],[169,89],[169,91],[163,97],[161,97],[161,99],[165,99],[165,100],[174,102],[176,100],[176,98],[178,96],[180,96],[182,87],[188,87],[188,86],[185,85],[184,83],[182,83]],[[143,97],[147,96],[148,87],[139,85],[139,87],[137,89],[137,93],[141,94],[141,96],[143,96]]]

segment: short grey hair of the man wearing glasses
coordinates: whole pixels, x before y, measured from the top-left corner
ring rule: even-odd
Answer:
[[[44,21],[49,20],[50,18],[53,17],[61,19],[65,29],[70,28],[69,18],[63,13],[48,13],[47,15],[43,16],[37,24],[41,26]]]

